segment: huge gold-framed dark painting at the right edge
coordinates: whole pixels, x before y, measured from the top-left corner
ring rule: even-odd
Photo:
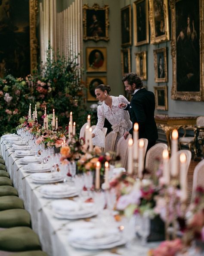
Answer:
[[[204,100],[204,1],[171,0],[171,98]]]

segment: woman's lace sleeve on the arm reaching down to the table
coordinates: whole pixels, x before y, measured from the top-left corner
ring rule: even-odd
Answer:
[[[104,126],[105,116],[103,114],[103,111],[101,109],[101,106],[98,106],[98,122],[96,125],[96,128],[92,131],[93,134],[95,134],[95,137],[92,139],[93,145],[104,147],[105,146],[105,135],[102,131],[102,128]]]

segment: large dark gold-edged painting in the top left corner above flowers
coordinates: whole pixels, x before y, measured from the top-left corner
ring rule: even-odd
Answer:
[[[0,1],[0,77],[25,77],[37,67],[37,0]],[[20,15],[19,15],[20,13]]]

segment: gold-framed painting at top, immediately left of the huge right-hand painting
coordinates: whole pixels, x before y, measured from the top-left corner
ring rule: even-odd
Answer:
[[[169,41],[168,0],[149,0],[151,44]]]

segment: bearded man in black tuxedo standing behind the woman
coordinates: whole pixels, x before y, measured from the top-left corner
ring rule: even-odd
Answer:
[[[129,73],[122,79],[125,90],[133,97],[130,104],[120,103],[119,108],[124,108],[130,113],[130,120],[139,125],[139,138],[148,139],[147,150],[154,146],[158,139],[157,125],[155,122],[155,95],[143,87],[142,80],[136,73]],[[133,128],[124,133],[126,139],[128,134],[133,134]]]

